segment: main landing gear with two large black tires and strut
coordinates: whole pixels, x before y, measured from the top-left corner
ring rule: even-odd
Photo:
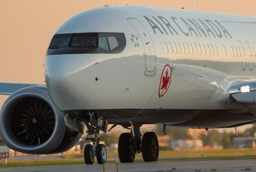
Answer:
[[[118,140],[118,156],[121,162],[133,162],[135,154],[142,152],[145,162],[157,161],[159,145],[154,132],[146,132],[141,141],[140,125],[131,124],[131,133],[122,133]]]

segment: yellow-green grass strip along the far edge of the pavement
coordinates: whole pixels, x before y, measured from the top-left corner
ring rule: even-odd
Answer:
[[[201,152],[204,153],[204,157],[201,157]],[[185,156],[187,153],[187,156]],[[227,156],[228,154],[228,156]],[[141,156],[139,154],[138,156]],[[107,163],[115,163],[115,159],[118,158],[117,153],[108,153]],[[256,159],[256,150],[204,150],[204,151],[160,151],[158,161],[199,161],[199,160],[232,160],[232,159]],[[135,159],[135,162],[143,162],[142,158]],[[84,164],[83,154],[69,154],[62,156],[60,160],[27,160],[27,161],[12,161],[7,162],[7,166],[4,165],[4,161],[0,162],[0,168],[4,167],[27,167],[27,166],[51,166],[51,165],[78,165]],[[174,169],[173,169],[174,170]],[[243,170],[250,171],[250,167],[246,167]],[[211,171],[217,171],[212,169]]]

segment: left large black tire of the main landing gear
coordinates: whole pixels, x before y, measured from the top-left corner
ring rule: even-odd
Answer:
[[[118,140],[118,156],[121,162],[133,162],[135,153],[130,149],[130,133],[122,133]]]

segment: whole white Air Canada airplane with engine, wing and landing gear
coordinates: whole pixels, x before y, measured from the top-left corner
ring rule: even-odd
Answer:
[[[0,133],[11,149],[64,152],[84,133],[84,159],[107,160],[99,132],[129,128],[121,162],[157,161],[143,124],[228,128],[256,122],[256,18],[148,6],[105,6],[75,15],[55,32],[45,85],[0,83],[10,95]],[[109,128],[108,126],[111,127]]]

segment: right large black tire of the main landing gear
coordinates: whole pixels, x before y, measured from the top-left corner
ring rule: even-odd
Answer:
[[[159,145],[157,136],[154,132],[146,132],[142,137],[141,143],[142,157],[145,162],[157,161]]]

